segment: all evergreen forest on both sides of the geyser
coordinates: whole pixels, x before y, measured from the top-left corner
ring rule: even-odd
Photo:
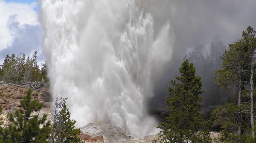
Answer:
[[[241,39],[227,48],[216,37],[207,56],[202,47],[198,45],[184,56],[180,76],[172,78],[166,97],[169,115],[157,126],[160,138],[152,141],[210,143],[209,131],[215,130],[220,133],[216,143],[256,143],[256,31],[247,27]],[[19,85],[47,83],[46,63],[40,68],[37,52],[31,57],[8,54],[0,66],[0,81]],[[20,102],[21,108],[8,115],[8,126],[0,127],[0,143],[82,142],[77,137],[80,131],[75,129],[76,121],[70,119],[67,98],[57,98],[54,118],[48,121],[47,115],[32,115],[43,104],[33,100],[31,94],[29,90]],[[202,106],[214,106],[209,118],[204,118]]]

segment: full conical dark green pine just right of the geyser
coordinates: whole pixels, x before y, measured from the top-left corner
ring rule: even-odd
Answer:
[[[162,129],[161,143],[209,143],[209,132],[204,127],[203,114],[199,113],[201,78],[195,76],[195,68],[188,60],[183,62],[180,73],[181,76],[175,77],[177,81],[171,80],[172,98],[166,98],[169,117],[158,126]]]

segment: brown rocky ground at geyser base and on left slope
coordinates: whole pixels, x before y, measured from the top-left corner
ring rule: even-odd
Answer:
[[[40,90],[48,91],[46,87],[42,87]],[[14,105],[15,108],[20,107],[20,100],[26,95],[26,91],[27,89],[22,87],[11,85],[0,86],[0,104],[3,108],[1,117],[4,119],[4,125],[6,125],[8,113],[13,112]],[[51,96],[48,93],[33,90],[32,97],[44,103],[44,107],[39,112],[39,115],[47,113],[48,117],[51,118]],[[84,140],[85,143],[152,143],[152,140],[159,137],[158,135],[149,135],[141,139],[134,139],[130,135],[127,135],[122,129],[105,123],[89,123],[79,129],[81,130],[79,137]],[[218,137],[219,133],[210,132],[210,135],[213,139]],[[215,142],[212,141],[212,143]]]

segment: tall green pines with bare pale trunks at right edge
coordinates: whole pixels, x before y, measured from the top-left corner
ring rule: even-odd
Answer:
[[[220,140],[224,143],[256,142],[256,137],[253,138],[251,135],[255,129],[250,126],[254,122],[250,118],[254,114],[250,111],[255,110],[255,105],[250,100],[255,101],[255,93],[250,87],[251,68],[255,75],[255,67],[252,67],[256,64],[254,61],[255,33],[249,26],[247,31],[243,31],[241,39],[229,44],[229,48],[221,56],[223,69],[215,71],[215,82],[219,87],[235,90],[232,103],[219,106],[212,112],[213,121],[221,125]],[[253,97],[251,98],[250,95]]]

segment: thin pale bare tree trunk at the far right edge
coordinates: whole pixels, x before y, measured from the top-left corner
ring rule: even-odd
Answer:
[[[252,137],[254,137],[254,121],[253,121],[253,55],[251,57],[251,63],[250,63],[250,122],[251,122],[251,131],[252,131]]]

